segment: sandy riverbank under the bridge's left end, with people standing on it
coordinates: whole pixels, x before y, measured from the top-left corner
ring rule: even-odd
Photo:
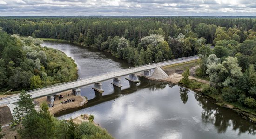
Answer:
[[[64,98],[59,100],[57,97],[54,101],[54,107],[49,107],[49,112],[52,115],[66,109],[83,106],[84,104],[87,103],[87,99],[84,96],[75,96],[71,93],[71,90],[62,92],[59,95],[63,95]],[[69,102],[67,104],[60,103],[60,101],[66,101],[67,99],[75,99],[75,102]],[[40,104],[42,104],[43,102],[46,102],[47,104],[50,103],[49,101],[47,101],[47,97],[41,97],[41,98],[35,99],[34,102],[37,104],[36,107],[40,107]]]

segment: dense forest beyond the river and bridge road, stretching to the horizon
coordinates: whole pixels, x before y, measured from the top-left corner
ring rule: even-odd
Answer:
[[[243,42],[254,35],[255,23],[246,18],[198,17],[0,19],[7,33],[94,46],[135,65],[195,55],[203,45],[222,39]]]

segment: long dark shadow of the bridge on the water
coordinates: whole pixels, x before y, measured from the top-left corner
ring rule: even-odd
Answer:
[[[160,81],[153,81],[153,80],[148,80],[144,77],[140,77],[141,82],[139,83],[134,83],[129,81],[130,87],[127,89],[121,89],[120,87],[114,86],[113,92],[104,95],[103,93],[99,93],[95,91],[95,97],[93,99],[88,100],[87,104],[81,106],[81,107],[76,107],[76,108],[71,108],[71,109],[66,109],[64,111],[61,111],[59,113],[54,114],[55,117],[60,117],[65,114],[69,113],[74,113],[76,111],[79,111],[81,109],[85,109],[88,107],[92,107],[107,101],[115,100],[118,97],[132,94],[136,92],[137,90],[144,89],[144,88],[149,88],[150,90],[155,90],[155,89],[163,89],[166,87],[168,83],[166,82],[160,82]]]

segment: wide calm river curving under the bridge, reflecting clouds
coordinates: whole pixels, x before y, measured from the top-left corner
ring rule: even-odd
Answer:
[[[42,46],[63,51],[78,65],[79,78],[86,78],[132,65],[107,52],[74,44],[44,42]],[[94,115],[94,122],[116,139],[255,139],[256,124],[230,109],[219,107],[201,93],[178,85],[140,78],[132,83],[121,77],[121,90],[112,80],[102,82],[104,93],[92,85],[81,88],[88,104],[55,115],[68,119]]]

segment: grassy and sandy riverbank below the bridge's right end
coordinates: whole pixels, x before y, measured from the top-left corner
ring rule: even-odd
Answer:
[[[200,92],[206,97],[214,100],[216,105],[234,110],[236,113],[240,114],[243,118],[250,120],[253,123],[256,123],[256,113],[251,109],[245,108],[237,103],[226,102],[222,99],[220,95],[212,95],[206,91],[203,91],[204,88],[209,87],[210,83],[207,80],[203,80],[203,79],[196,78],[195,76],[191,76],[191,75],[195,75],[195,70],[197,68],[196,61],[161,67],[168,74],[168,77],[164,79],[155,79],[147,76],[144,76],[144,77],[150,80],[179,84],[179,81],[182,79],[182,73],[185,71],[186,67],[188,67],[190,70],[190,76],[189,76],[190,83],[189,83],[189,86],[186,88],[189,88],[195,92]],[[143,75],[138,74],[138,76],[143,76]]]

